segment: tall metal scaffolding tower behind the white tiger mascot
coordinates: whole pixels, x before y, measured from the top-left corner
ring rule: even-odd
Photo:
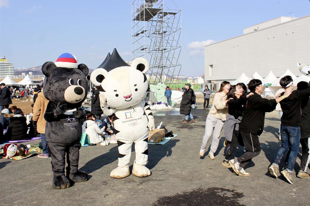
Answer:
[[[168,1],[167,1],[168,2]],[[132,3],[132,59],[150,63],[151,84],[180,84],[182,71],[181,10],[169,9],[164,0],[135,0]]]

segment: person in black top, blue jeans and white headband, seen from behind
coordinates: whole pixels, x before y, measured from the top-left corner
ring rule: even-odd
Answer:
[[[292,171],[297,158],[300,143],[300,126],[301,126],[301,100],[310,96],[310,87],[298,91],[293,91],[293,79],[287,75],[280,79],[280,85],[285,92],[291,91],[292,94],[280,102],[283,115],[281,117],[281,147],[278,150],[272,165],[268,168],[272,176],[278,177],[279,164],[285,152],[290,148],[287,169],[282,170],[281,174],[288,182],[293,184]],[[282,92],[282,95],[284,92]]]

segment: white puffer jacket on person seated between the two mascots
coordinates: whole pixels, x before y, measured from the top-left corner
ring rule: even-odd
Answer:
[[[91,144],[99,144],[104,139],[99,134],[102,134],[104,132],[104,127],[100,130],[98,127],[98,124],[93,120],[86,120],[83,123],[83,132],[86,133],[89,137],[89,141]]]

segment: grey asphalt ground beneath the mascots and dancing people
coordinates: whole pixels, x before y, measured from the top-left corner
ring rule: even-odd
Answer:
[[[209,110],[202,109],[202,103],[197,104],[192,110],[196,122],[191,124],[181,124],[184,116],[177,111],[155,112],[155,124],[163,122],[168,131],[178,136],[165,145],[149,145],[147,167],[151,176],[138,178],[131,174],[123,179],[110,178],[111,170],[117,167],[116,144],[82,147],[80,170],[87,172],[90,179],[62,190],[51,186],[50,158],[0,159],[0,204],[309,205],[310,178],[294,176],[294,185],[291,185],[283,177],[276,179],[268,173],[268,165],[281,144],[277,140],[280,122],[276,111],[266,114],[264,132],[260,136],[262,152],[246,168],[251,176],[244,177],[221,166],[224,130],[215,160],[210,160],[207,152],[205,157],[198,155]],[[210,144],[211,139],[208,148]],[[236,157],[242,154],[241,148],[233,153]],[[130,169],[134,157],[133,152]],[[298,164],[295,164],[294,174],[299,170]]]

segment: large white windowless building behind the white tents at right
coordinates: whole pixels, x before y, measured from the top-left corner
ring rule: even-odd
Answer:
[[[205,79],[232,81],[242,73],[270,71],[280,77],[287,69],[301,73],[297,63],[310,63],[310,15],[278,17],[243,29],[243,34],[205,46]]]

